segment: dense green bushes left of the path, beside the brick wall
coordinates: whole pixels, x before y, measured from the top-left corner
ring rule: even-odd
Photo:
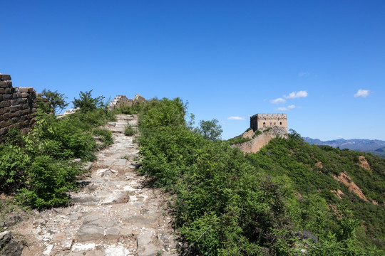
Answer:
[[[58,119],[55,111],[68,105],[63,95],[49,90],[44,94],[49,102],[39,102],[31,132],[22,135],[11,129],[0,144],[0,191],[34,208],[68,203],[66,192],[76,189],[76,176],[83,172],[82,164],[73,159],[93,161],[94,151],[112,144],[111,132],[98,128],[114,118],[102,97],[81,92],[73,103],[80,110]]]

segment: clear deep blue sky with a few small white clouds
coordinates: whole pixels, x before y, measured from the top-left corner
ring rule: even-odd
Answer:
[[[318,139],[385,140],[385,1],[1,1],[14,86],[181,97],[228,139],[287,113]]]

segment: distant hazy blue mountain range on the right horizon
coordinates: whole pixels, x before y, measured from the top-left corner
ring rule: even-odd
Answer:
[[[385,158],[385,141],[379,139],[334,139],[326,142],[309,137],[304,137],[303,139],[309,144],[338,146],[340,149],[371,152]]]

